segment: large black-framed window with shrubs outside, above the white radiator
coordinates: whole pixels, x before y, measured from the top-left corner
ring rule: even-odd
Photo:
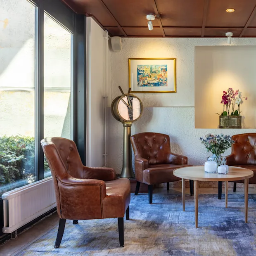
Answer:
[[[75,91],[85,85],[74,65],[85,64],[74,42],[84,49],[84,27],[60,0],[0,0],[0,197],[51,175],[40,140],[75,140]]]

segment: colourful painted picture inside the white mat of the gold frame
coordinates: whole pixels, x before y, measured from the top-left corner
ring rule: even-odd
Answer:
[[[168,86],[166,65],[137,65],[137,86]]]

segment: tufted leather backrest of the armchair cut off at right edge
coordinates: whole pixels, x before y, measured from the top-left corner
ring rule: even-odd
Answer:
[[[233,135],[232,140],[235,165],[256,165],[256,133]]]

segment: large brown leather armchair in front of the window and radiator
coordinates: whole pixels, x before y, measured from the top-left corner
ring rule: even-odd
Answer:
[[[118,218],[120,247],[124,246],[123,217],[129,219],[130,181],[116,180],[112,168],[83,166],[75,142],[64,138],[41,141],[55,187],[59,229],[55,248],[59,248],[66,219]]]

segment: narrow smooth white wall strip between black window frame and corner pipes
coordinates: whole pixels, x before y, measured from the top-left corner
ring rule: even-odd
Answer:
[[[87,18],[87,166],[103,166],[104,31]]]

